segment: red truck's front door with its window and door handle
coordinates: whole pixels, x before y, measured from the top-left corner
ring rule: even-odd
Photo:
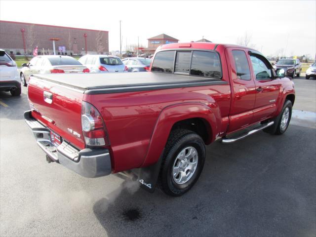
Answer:
[[[269,118],[275,111],[280,91],[280,79],[276,79],[269,61],[260,54],[249,53],[252,76],[256,85],[256,102],[252,123]]]

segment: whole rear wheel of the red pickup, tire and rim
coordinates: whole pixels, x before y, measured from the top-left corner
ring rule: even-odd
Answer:
[[[158,186],[170,196],[181,196],[197,182],[205,162],[202,138],[186,129],[171,131],[160,168]]]

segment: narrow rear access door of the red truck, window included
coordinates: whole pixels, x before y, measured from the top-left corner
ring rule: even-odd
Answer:
[[[226,60],[231,78],[231,109],[228,133],[249,125],[252,121],[256,88],[251,77],[247,52],[242,48],[227,48]]]

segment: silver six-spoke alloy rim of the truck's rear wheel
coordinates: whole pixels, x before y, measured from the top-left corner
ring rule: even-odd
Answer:
[[[197,169],[198,155],[194,147],[184,148],[177,156],[172,167],[172,178],[177,184],[188,182]]]

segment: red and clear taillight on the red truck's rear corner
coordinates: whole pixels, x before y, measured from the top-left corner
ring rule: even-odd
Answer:
[[[99,111],[91,104],[82,102],[81,128],[85,144],[88,146],[108,146],[107,129]]]

